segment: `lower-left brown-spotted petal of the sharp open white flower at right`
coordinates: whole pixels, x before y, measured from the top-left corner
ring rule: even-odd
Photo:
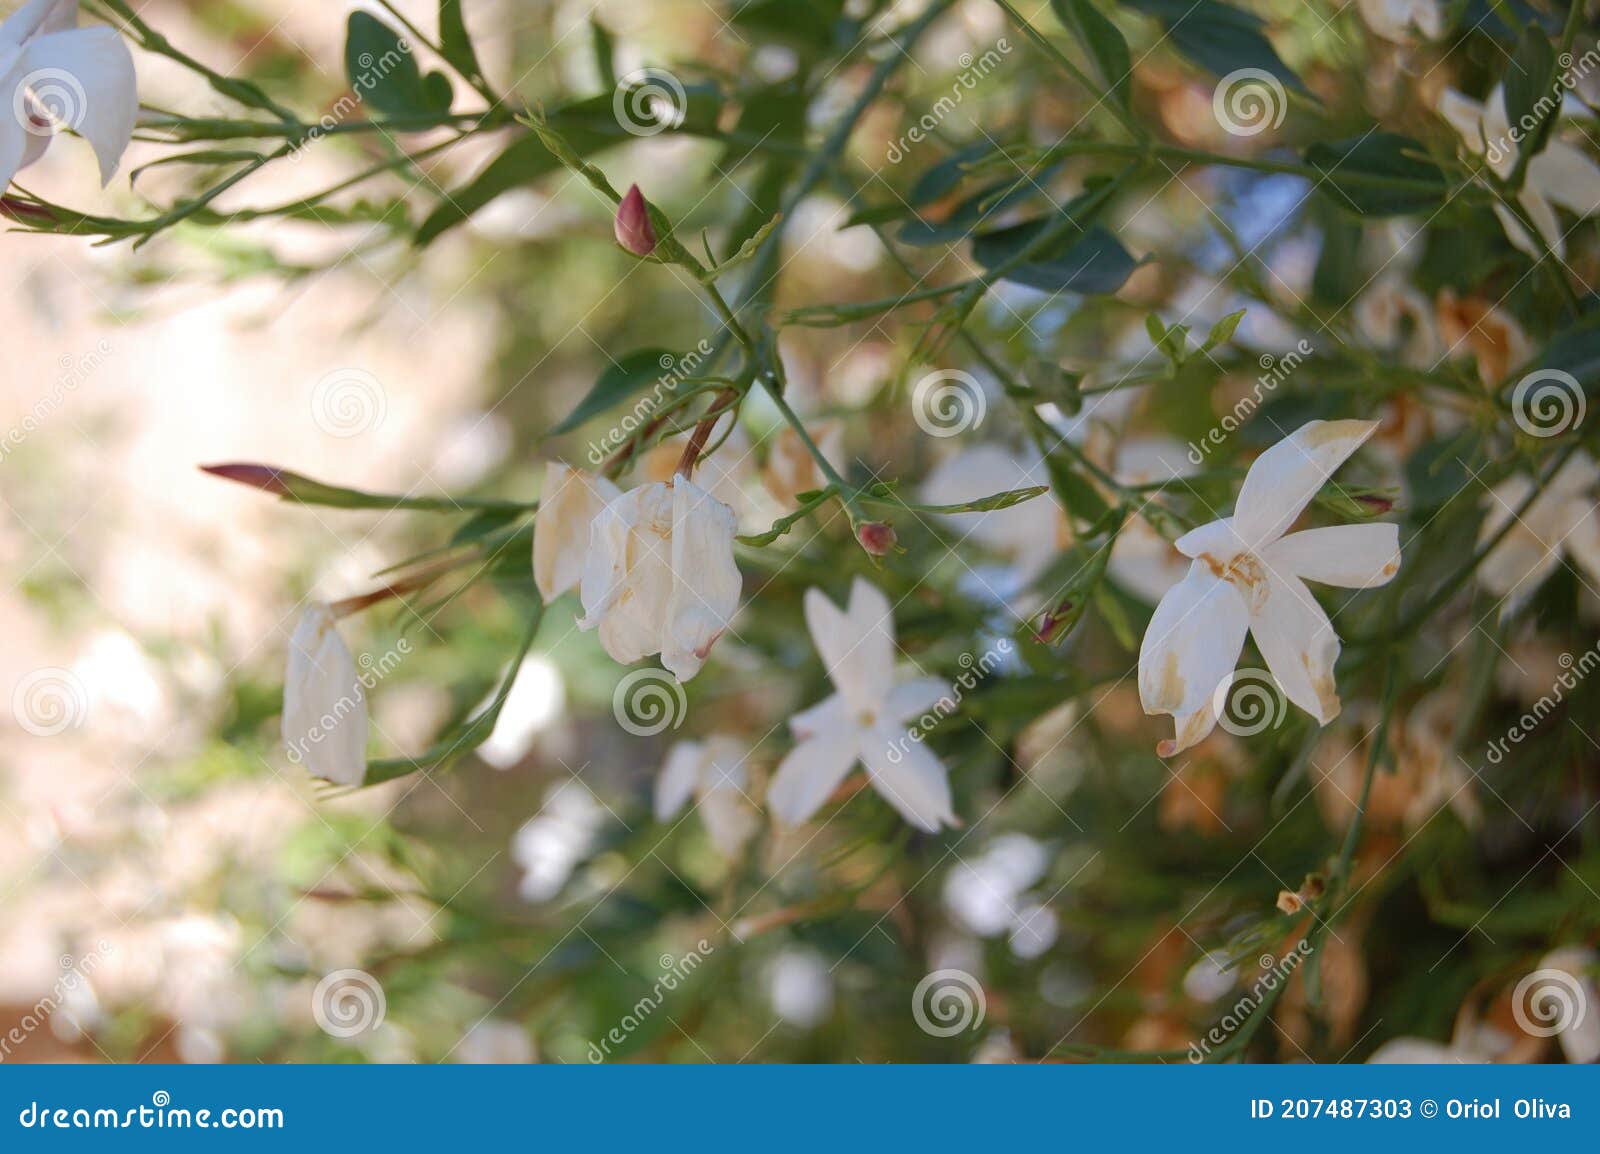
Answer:
[[[1211,699],[1238,664],[1248,624],[1238,591],[1205,562],[1190,565],[1155,607],[1139,647],[1139,701],[1147,714],[1178,719],[1178,738],[1162,743],[1162,757],[1182,752],[1211,731]]]

